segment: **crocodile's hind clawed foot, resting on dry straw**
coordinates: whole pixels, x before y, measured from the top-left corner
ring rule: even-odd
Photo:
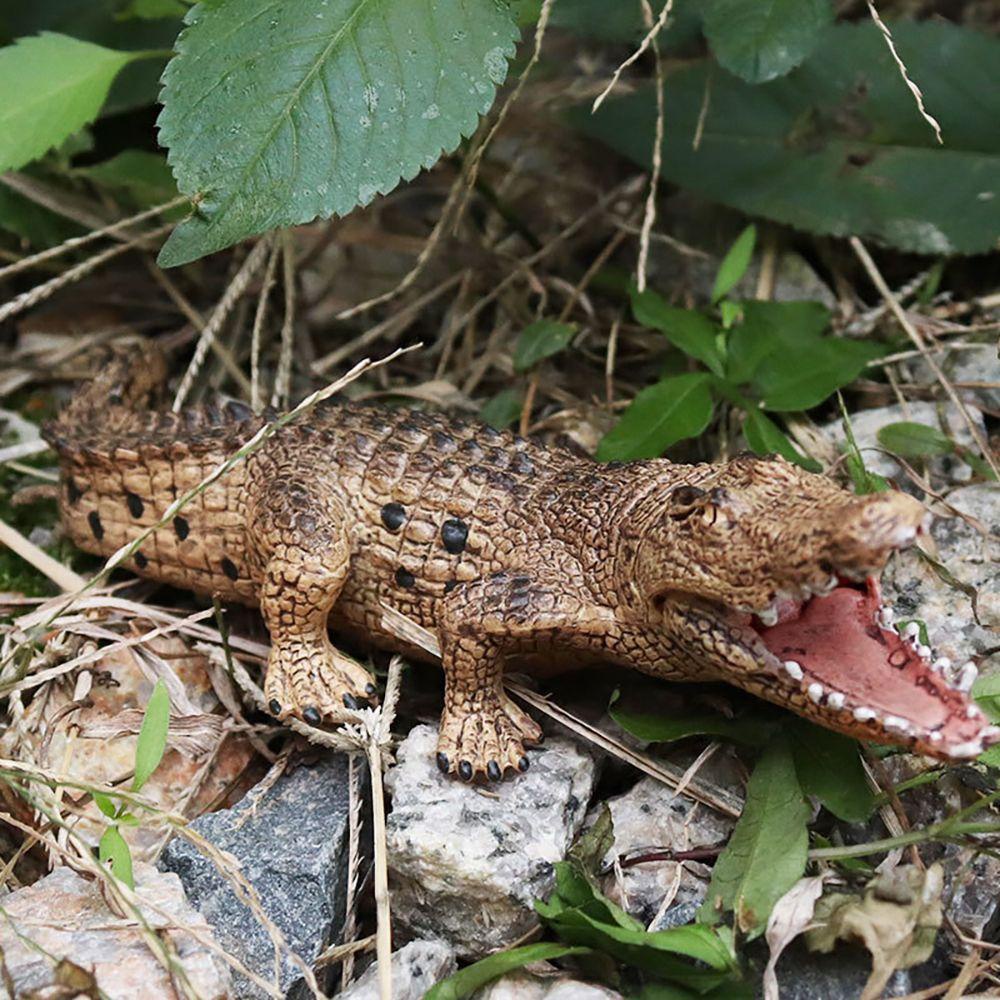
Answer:
[[[333,647],[273,644],[264,681],[264,700],[276,719],[301,719],[311,726],[350,718],[345,709],[377,703],[371,674]]]

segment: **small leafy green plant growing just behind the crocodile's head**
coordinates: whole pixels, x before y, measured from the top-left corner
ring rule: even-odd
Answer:
[[[743,434],[757,454],[804,457],[771,414],[808,410],[855,379],[882,348],[824,336],[830,321],[816,302],[740,302],[729,298],[753,254],[748,226],[719,267],[707,310],[678,309],[656,292],[632,290],[632,313],[659,330],[697,366],[643,389],[605,435],[600,459],[654,458],[708,427],[720,407],[743,413]]]

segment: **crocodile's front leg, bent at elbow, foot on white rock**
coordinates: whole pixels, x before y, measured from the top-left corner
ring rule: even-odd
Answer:
[[[528,769],[525,743],[542,731],[503,690],[508,656],[558,647],[593,647],[614,615],[565,581],[498,573],[453,591],[439,631],[445,674],[438,767],[465,781],[499,781],[505,770]]]

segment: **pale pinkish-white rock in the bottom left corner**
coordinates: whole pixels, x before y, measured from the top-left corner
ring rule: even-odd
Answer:
[[[182,929],[212,936],[205,918],[185,898],[177,876],[137,864],[135,880],[145,920],[176,953],[196,995],[202,1000],[228,998],[228,965]],[[57,868],[34,885],[5,896],[3,907],[0,954],[18,997],[52,986],[53,966],[64,958],[92,974],[101,995],[109,1000],[185,996],[149,950],[135,920],[113,913],[100,884],[70,868]],[[3,978],[0,997],[9,997]]]

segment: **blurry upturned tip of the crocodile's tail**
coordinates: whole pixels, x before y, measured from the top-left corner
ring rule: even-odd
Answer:
[[[90,437],[99,429],[107,436],[135,426],[167,378],[163,351],[138,337],[102,344],[83,356],[91,376],[80,386],[59,416],[42,428],[42,436],[57,451]]]

